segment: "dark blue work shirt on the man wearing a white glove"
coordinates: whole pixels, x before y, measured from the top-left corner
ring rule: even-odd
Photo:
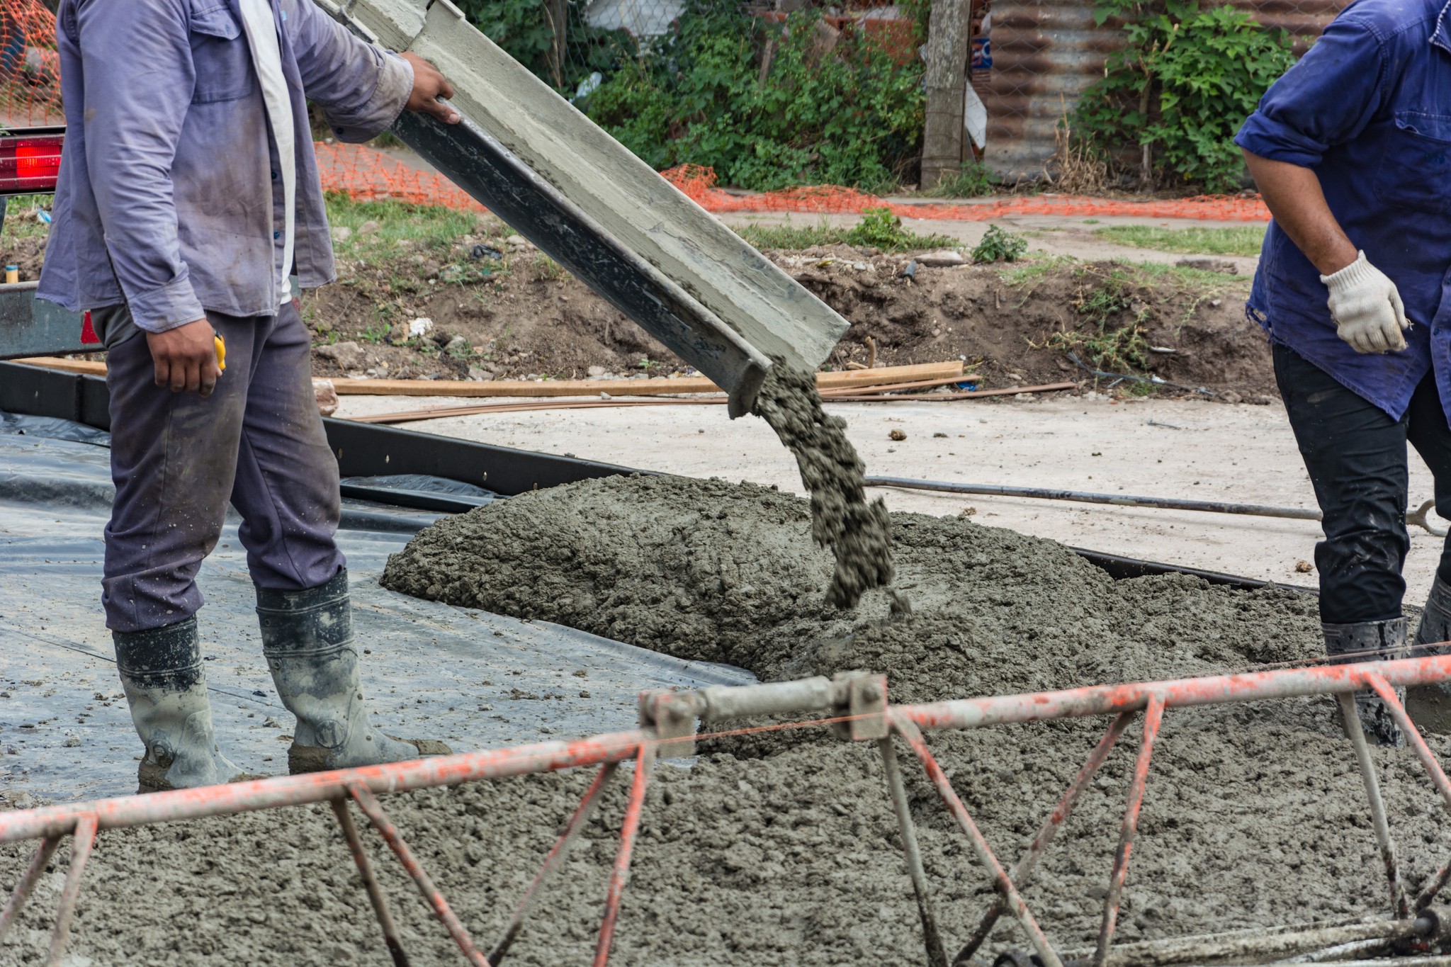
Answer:
[[[1319,175],[1345,235],[1396,283],[1412,328],[1400,352],[1355,352],[1335,333],[1320,273],[1274,220],[1249,318],[1393,419],[1428,370],[1451,404],[1448,9],[1444,0],[1355,0],[1235,136],[1261,158]]]

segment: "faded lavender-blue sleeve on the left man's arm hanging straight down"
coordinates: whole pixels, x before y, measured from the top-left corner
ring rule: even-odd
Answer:
[[[171,193],[196,83],[187,10],[178,0],[87,3],[78,25],[86,165],[106,251],[136,325],[174,329],[205,315],[181,260]]]

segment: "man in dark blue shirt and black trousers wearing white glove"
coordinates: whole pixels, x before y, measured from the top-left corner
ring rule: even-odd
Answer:
[[[1235,138],[1274,216],[1246,309],[1323,513],[1320,621],[1341,661],[1451,636],[1451,548],[1410,645],[1402,615],[1407,439],[1451,516],[1448,10],[1357,0]],[[1373,693],[1355,697],[1368,735],[1403,741]]]

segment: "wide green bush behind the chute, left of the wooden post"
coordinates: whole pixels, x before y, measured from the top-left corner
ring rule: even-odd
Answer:
[[[620,64],[586,112],[654,168],[708,165],[724,184],[844,184],[881,191],[917,159],[921,65],[843,32],[820,52],[820,12],[769,23],[695,6]],[[762,51],[775,41],[762,81]]]

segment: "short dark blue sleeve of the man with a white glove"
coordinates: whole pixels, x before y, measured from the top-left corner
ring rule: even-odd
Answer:
[[[1235,144],[1261,158],[1312,168],[1370,123],[1386,94],[1384,75],[1384,43],[1373,26],[1342,16],[1270,86]]]

